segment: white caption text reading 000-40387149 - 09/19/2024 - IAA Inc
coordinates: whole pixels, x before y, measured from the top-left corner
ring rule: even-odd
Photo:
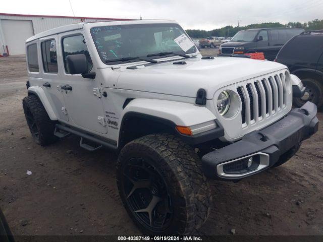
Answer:
[[[197,236],[118,236],[118,241],[201,241]]]

